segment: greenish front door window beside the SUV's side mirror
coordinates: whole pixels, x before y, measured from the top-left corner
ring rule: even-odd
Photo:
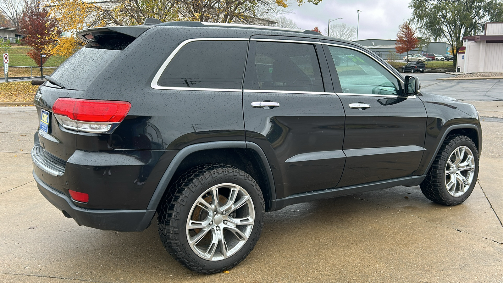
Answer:
[[[368,55],[337,46],[328,49],[344,93],[401,95],[398,79]]]

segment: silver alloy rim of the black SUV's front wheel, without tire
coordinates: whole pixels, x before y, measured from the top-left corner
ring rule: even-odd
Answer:
[[[475,159],[468,147],[461,146],[452,153],[445,167],[445,186],[450,195],[458,197],[466,192],[473,181]]]

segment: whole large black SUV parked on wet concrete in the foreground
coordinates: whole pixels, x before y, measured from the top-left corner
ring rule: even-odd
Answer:
[[[475,186],[475,108],[356,43],[200,22],[78,37],[35,95],[38,188],[79,225],[142,231],[157,214],[191,270],[238,264],[266,211],[417,185],[455,205]]]

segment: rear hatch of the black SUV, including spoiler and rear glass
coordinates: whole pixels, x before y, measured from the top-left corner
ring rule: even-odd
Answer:
[[[76,150],[76,134],[96,135],[63,127],[53,113],[58,98],[85,99],[83,93],[99,80],[103,70],[148,26],[95,28],[77,36],[87,42],[85,47],[68,58],[37,91],[34,99],[39,117],[32,151],[46,169],[64,168]],[[40,165],[36,162],[37,165]],[[43,165],[43,164],[42,164]],[[41,166],[39,166],[41,167]]]

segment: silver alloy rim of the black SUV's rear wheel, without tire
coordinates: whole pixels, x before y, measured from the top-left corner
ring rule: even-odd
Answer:
[[[206,260],[222,260],[248,240],[255,223],[255,208],[242,187],[223,183],[202,193],[187,219],[187,241]]]

